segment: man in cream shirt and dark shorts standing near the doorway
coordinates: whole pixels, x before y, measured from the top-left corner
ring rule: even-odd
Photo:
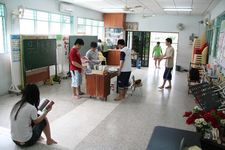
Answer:
[[[172,39],[171,38],[167,38],[166,39],[166,52],[165,54],[162,56],[161,59],[166,59],[166,63],[165,63],[165,72],[164,72],[164,75],[163,75],[163,84],[162,86],[160,86],[159,88],[160,89],[163,89],[165,84],[166,84],[166,81],[169,82],[169,85],[166,87],[167,89],[170,89],[172,86],[171,86],[171,80],[172,80],[172,70],[173,70],[173,65],[174,65],[174,48],[171,46],[172,44]]]

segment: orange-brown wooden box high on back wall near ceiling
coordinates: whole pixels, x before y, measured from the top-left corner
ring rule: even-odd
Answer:
[[[105,28],[122,28],[125,27],[126,16],[124,13],[105,13],[104,15]]]

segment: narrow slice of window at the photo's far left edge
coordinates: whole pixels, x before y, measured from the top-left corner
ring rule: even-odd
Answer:
[[[0,53],[6,49],[5,6],[0,4]]]

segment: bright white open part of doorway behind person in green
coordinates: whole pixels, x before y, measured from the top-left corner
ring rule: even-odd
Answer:
[[[175,32],[151,32],[151,40],[150,40],[150,55],[149,55],[149,65],[151,67],[155,66],[154,59],[152,57],[152,52],[154,47],[156,46],[157,42],[160,42],[160,46],[162,48],[162,53],[166,52],[166,43],[165,39],[171,38],[172,39],[172,46],[174,48],[174,64],[176,64],[177,60],[177,48],[178,48],[178,33]],[[165,60],[162,60],[160,63],[161,66],[164,66]]]

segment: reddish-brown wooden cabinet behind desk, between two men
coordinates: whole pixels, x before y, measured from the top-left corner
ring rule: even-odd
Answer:
[[[120,50],[109,50],[107,55],[107,65],[120,65]]]

